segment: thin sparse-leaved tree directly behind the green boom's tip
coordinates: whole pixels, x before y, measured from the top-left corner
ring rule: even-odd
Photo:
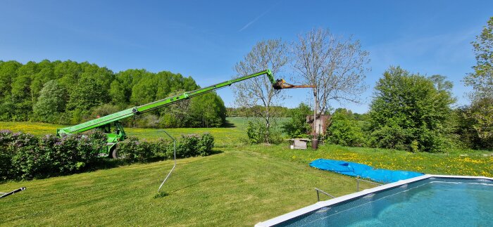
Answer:
[[[282,72],[288,62],[287,46],[281,39],[269,39],[259,41],[251,51],[235,65],[237,72],[235,77],[243,77],[248,74],[270,69],[274,75]],[[270,131],[272,117],[275,116],[276,105],[281,99],[280,91],[273,89],[273,84],[267,77],[254,77],[244,82],[234,84],[232,89],[235,94],[235,102],[239,107],[251,108],[260,105],[263,108],[251,108],[258,110],[257,117],[261,117],[266,124],[266,131]],[[263,142],[269,143],[269,133],[265,134]]]

